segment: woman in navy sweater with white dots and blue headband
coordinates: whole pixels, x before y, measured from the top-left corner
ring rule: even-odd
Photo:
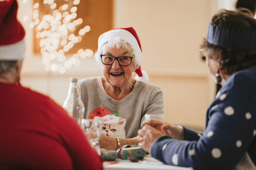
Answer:
[[[255,169],[256,20],[251,12],[220,10],[200,51],[216,83],[223,85],[207,109],[204,133],[164,124],[164,135],[145,125],[138,131],[139,146],[171,165]]]

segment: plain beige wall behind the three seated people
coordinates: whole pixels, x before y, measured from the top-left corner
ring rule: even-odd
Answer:
[[[20,20],[29,16],[23,22],[27,50],[21,83],[62,105],[69,77],[83,79],[101,72],[94,58],[86,58],[63,75],[47,73],[41,57],[32,52],[32,1],[18,2]],[[233,9],[234,4],[235,0],[114,0],[113,28],[133,26],[136,30],[142,45],[142,70],[148,73],[149,83],[164,92],[167,122],[203,130],[216,85],[200,58],[199,44],[212,14],[219,8]]]

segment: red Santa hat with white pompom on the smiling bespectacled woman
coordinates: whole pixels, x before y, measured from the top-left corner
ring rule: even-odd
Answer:
[[[138,64],[135,73],[137,76],[135,79],[143,80],[148,82],[149,77],[145,71],[141,70],[140,62],[142,59],[142,50],[139,37],[133,27],[128,28],[116,28],[103,33],[98,39],[98,51],[103,47],[103,45],[109,41],[109,38],[119,37],[121,40],[127,42],[134,50],[134,57],[136,58],[136,63]]]

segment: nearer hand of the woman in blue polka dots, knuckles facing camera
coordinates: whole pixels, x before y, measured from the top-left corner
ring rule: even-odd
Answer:
[[[138,130],[139,147],[149,152],[149,148],[155,139],[162,136],[163,134],[155,128],[144,125],[142,129]]]

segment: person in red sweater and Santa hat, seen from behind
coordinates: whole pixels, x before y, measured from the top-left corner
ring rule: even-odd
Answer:
[[[0,1],[0,169],[102,170],[82,129],[49,97],[19,83],[25,31],[17,1]]]

